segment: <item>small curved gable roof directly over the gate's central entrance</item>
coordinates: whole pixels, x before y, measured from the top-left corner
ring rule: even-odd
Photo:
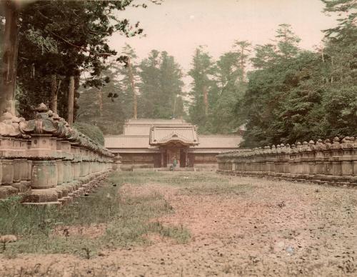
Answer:
[[[164,145],[181,143],[187,146],[198,145],[198,136],[195,126],[181,125],[154,125],[150,128],[150,145]]]

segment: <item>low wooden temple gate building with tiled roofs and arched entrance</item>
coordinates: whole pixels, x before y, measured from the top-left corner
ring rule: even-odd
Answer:
[[[238,135],[198,135],[183,119],[128,119],[124,134],[104,136],[104,146],[121,156],[121,168],[217,167],[216,155],[238,148]]]

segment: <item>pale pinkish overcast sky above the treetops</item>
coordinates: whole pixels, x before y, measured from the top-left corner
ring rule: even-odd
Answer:
[[[186,72],[197,46],[206,45],[217,59],[236,39],[268,43],[283,23],[291,24],[304,49],[313,49],[323,37],[321,30],[336,25],[322,10],[320,0],[164,0],[161,5],[121,12],[119,16],[132,23],[140,21],[146,37],[114,34],[110,45],[120,51],[130,44],[139,59],[151,49],[168,51]]]

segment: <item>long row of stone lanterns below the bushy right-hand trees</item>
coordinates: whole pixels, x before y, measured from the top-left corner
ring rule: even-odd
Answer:
[[[357,138],[304,141],[217,156],[218,172],[357,185]]]

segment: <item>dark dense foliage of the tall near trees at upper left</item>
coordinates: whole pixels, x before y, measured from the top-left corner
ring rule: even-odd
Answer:
[[[104,62],[116,51],[109,49],[107,38],[119,31],[134,36],[143,31],[139,23],[131,26],[119,19],[116,11],[131,6],[128,1],[32,1],[20,12],[18,80],[19,113],[33,116],[39,99],[50,102],[51,75],[57,77],[58,113],[66,118],[69,76],[86,71],[86,80],[97,86]],[[75,95],[79,96],[78,92]],[[75,111],[78,109],[75,99]]]

